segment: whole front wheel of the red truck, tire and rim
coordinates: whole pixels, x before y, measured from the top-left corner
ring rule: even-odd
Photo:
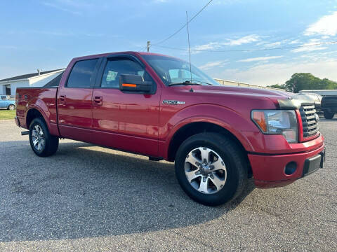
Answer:
[[[239,196],[248,178],[246,159],[237,144],[216,133],[186,139],[176,155],[176,176],[193,200],[217,206]]]

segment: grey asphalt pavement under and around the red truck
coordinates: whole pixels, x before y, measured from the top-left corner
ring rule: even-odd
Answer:
[[[39,158],[0,121],[0,251],[336,251],[337,118],[324,169],[231,204],[190,200],[173,164],[61,140]]]

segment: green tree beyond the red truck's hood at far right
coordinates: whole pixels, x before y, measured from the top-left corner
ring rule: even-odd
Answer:
[[[286,90],[298,92],[300,90],[337,89],[335,81],[324,78],[323,80],[311,73],[294,73],[285,84]]]

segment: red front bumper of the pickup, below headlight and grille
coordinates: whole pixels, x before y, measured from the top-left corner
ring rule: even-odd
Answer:
[[[317,157],[318,155],[321,156],[320,159]],[[325,147],[323,144],[314,151],[296,154],[249,154],[248,158],[251,163],[256,187],[275,188],[289,185],[290,183],[293,183],[293,181],[317,171],[325,160]],[[290,162],[296,163],[296,170],[288,175],[285,172],[285,168]]]

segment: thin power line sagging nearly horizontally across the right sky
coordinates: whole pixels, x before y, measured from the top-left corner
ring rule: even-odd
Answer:
[[[263,51],[263,50],[282,50],[282,49],[293,49],[293,48],[304,48],[309,46],[315,46],[315,45],[329,45],[329,44],[335,44],[337,41],[330,41],[330,42],[324,42],[324,43],[313,43],[309,45],[294,45],[294,46],[287,46],[287,47],[279,47],[279,48],[258,48],[258,49],[245,49],[245,50],[194,50],[191,49],[192,52],[253,52],[253,51]],[[173,48],[170,46],[164,46],[164,45],[152,45],[159,48],[167,48],[171,50],[184,50],[188,51],[188,49],[185,48]]]

